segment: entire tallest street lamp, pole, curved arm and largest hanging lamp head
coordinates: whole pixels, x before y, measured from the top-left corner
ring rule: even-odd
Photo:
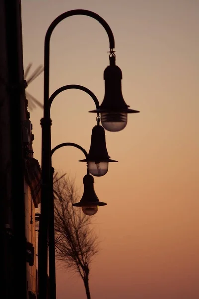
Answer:
[[[39,299],[47,297],[47,239],[48,239],[48,220],[49,220],[49,198],[51,181],[51,118],[49,102],[49,63],[50,63],[50,38],[54,28],[65,18],[73,15],[86,15],[96,19],[107,32],[110,44],[110,66],[104,73],[105,97],[102,107],[98,107],[97,112],[101,113],[104,128],[110,131],[123,129],[127,122],[127,113],[138,112],[129,110],[121,94],[121,70],[115,65],[114,36],[106,21],[98,14],[84,9],[67,11],[59,15],[49,26],[44,43],[44,116],[41,119],[42,126],[42,184],[41,184],[41,216],[40,216],[40,243],[39,246]],[[116,85],[116,86],[115,86]],[[117,87],[118,85],[118,87]],[[119,94],[115,92],[115,89]],[[117,126],[119,124],[119,126]],[[125,124],[125,125],[124,125]],[[122,125],[122,126],[121,126]],[[115,129],[116,128],[116,129]],[[53,294],[52,298],[56,298]]]

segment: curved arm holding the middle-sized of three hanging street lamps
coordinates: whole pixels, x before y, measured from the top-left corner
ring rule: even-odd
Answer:
[[[86,93],[87,93],[88,95],[90,95],[90,97],[92,97],[92,99],[94,100],[94,103],[95,103],[95,105],[96,105],[96,109],[99,109],[99,108],[100,108],[100,103],[99,103],[98,99],[96,98],[96,96],[94,95],[94,93],[93,93],[90,89],[88,89],[88,88],[86,88],[86,87],[84,87],[84,86],[82,86],[82,85],[69,84],[69,85],[64,85],[64,86],[58,88],[58,89],[57,89],[56,91],[54,91],[54,93],[50,96],[50,98],[49,98],[49,110],[50,110],[50,107],[51,107],[51,104],[52,104],[54,98],[55,98],[60,92],[62,92],[62,91],[64,91],[64,90],[67,90],[67,89],[79,89],[79,90],[82,90],[82,91],[86,92]]]

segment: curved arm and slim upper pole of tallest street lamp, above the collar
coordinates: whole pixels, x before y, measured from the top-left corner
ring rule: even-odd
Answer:
[[[63,14],[59,15],[49,26],[46,36],[45,36],[45,43],[44,43],[44,117],[49,116],[49,109],[48,109],[48,99],[49,99],[49,61],[50,61],[50,37],[55,29],[55,27],[65,18],[73,15],[86,15],[96,19],[106,30],[109,38],[110,43],[110,52],[113,51],[115,47],[114,35],[110,26],[106,21],[100,17],[100,15],[96,14],[95,12],[85,10],[85,9],[74,9]]]

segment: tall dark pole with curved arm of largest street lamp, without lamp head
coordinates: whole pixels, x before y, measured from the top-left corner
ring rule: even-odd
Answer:
[[[113,53],[115,47],[112,30],[106,21],[98,14],[84,9],[67,11],[58,16],[49,26],[44,44],[44,116],[41,119],[42,126],[42,185],[41,185],[41,216],[39,227],[39,298],[47,298],[47,241],[48,241],[48,220],[49,220],[49,198],[51,181],[51,118],[49,101],[49,63],[50,63],[50,38],[54,28],[65,18],[73,15],[86,15],[96,19],[104,27],[108,34],[110,53]],[[56,298],[56,294],[51,294]]]

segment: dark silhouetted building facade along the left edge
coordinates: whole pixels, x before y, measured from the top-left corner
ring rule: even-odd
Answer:
[[[0,237],[3,299],[37,297],[39,163],[23,78],[21,1],[0,1]]]

